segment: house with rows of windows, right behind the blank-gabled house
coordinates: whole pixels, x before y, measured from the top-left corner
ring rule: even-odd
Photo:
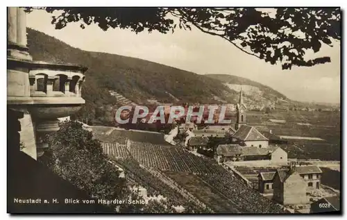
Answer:
[[[321,185],[322,171],[317,166],[298,166],[296,167],[298,174],[305,180],[307,184],[307,192],[316,192]]]

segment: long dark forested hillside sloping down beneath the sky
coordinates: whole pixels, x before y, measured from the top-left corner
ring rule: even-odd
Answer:
[[[147,99],[164,103],[235,103],[238,92],[225,84],[242,83],[263,90],[265,101],[269,97],[285,97],[270,87],[237,76],[208,77],[138,58],[83,51],[40,31],[28,28],[27,32],[34,60],[88,67],[82,89],[86,104],[77,114],[87,124],[112,125],[112,110],[119,103],[110,90],[135,103],[146,103]],[[252,99],[248,97],[248,101]]]

